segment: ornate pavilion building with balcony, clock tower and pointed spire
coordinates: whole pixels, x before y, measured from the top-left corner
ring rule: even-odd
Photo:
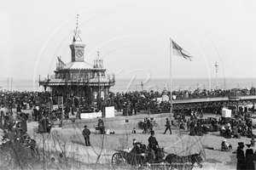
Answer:
[[[78,19],[78,17],[77,17]],[[94,65],[84,61],[85,44],[79,37],[78,22],[74,31],[71,49],[71,62],[65,64],[58,57],[55,75],[45,80],[39,80],[39,86],[50,88],[53,97],[63,96],[64,102],[74,96],[85,99],[87,105],[96,105],[101,99],[108,99],[109,88],[115,83],[114,75],[106,75],[103,59],[99,52]]]

